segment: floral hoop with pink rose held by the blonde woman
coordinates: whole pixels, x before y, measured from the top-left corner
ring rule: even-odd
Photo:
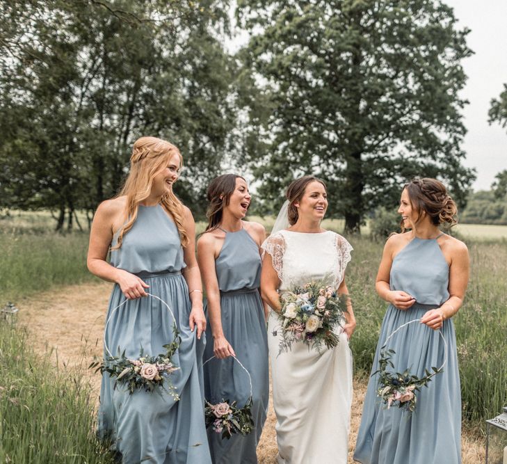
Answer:
[[[92,362],[90,367],[96,367],[96,371],[101,371],[102,373],[107,372],[111,377],[115,377],[116,381],[114,387],[116,388],[118,383],[123,383],[127,385],[127,389],[131,394],[136,390],[143,389],[147,392],[157,392],[161,394],[157,387],[164,387],[164,383],[167,383],[166,390],[175,401],[178,401],[179,395],[177,394],[176,388],[170,379],[170,374],[179,369],[179,367],[172,362],[172,356],[176,353],[179,348],[179,344],[182,342],[182,339],[179,336],[179,330],[176,326],[175,314],[172,312],[169,305],[161,298],[150,293],[147,293],[147,295],[159,300],[167,307],[170,315],[172,316],[173,338],[172,342],[163,345],[163,348],[166,349],[166,353],[161,353],[156,356],[146,355],[143,351],[143,347],[141,346],[139,358],[131,359],[125,356],[125,351],[120,351],[119,346],[117,356],[113,356],[111,351],[109,351],[106,342],[107,326],[109,321],[111,321],[111,317],[113,317],[114,312],[119,310],[120,307],[129,301],[125,300],[111,311],[111,314],[109,314],[106,321],[106,326],[104,326],[104,349],[107,352],[104,361],[102,363]]]

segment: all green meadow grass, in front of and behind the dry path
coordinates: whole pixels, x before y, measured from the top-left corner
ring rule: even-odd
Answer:
[[[82,285],[83,288],[91,285],[92,288],[102,289],[99,280],[86,270],[88,234],[75,232],[65,236],[55,235],[51,232],[52,221],[46,213],[19,213],[0,219],[1,306],[13,301],[21,314],[30,307],[33,310],[33,302],[40,295],[44,295],[45,301],[50,301],[52,292],[56,297],[58,291],[67,291],[67,285]],[[268,229],[272,221],[272,218],[263,220]],[[204,224],[198,223],[198,230],[203,227]],[[325,221],[324,227],[341,232],[343,223]],[[507,404],[507,227],[459,225],[458,233],[467,243],[472,260],[465,305],[454,318],[460,362],[463,427],[482,442],[485,419],[497,415],[501,407]],[[364,385],[385,312],[385,303],[373,289],[383,245],[371,241],[367,237],[367,230],[363,231],[362,237],[347,238],[355,248],[346,277],[357,317],[357,330],[351,341],[351,349],[356,382]],[[105,304],[104,300],[100,312],[105,312]],[[30,332],[31,317],[22,320]],[[33,342],[33,338],[27,338],[20,324],[17,328],[11,328],[7,323],[0,323],[0,414],[4,417],[0,461],[8,462],[5,456],[12,455],[12,444],[20,436],[24,437],[19,443],[26,448],[25,456],[33,456],[33,449],[41,446],[38,440],[47,440],[45,437],[49,432],[43,425],[47,417],[51,417],[51,422],[61,421],[62,424],[68,422],[70,417],[83,417],[80,419],[84,424],[83,429],[72,434],[77,440],[70,440],[70,437],[65,443],[65,440],[59,439],[51,442],[48,449],[59,449],[62,456],[67,458],[86,455],[96,458],[95,461],[95,458],[87,458],[86,462],[108,462],[109,457],[93,435],[88,433],[94,420],[92,410],[95,403],[90,399],[93,393],[85,387],[79,387],[79,369],[74,369],[70,374],[61,367],[51,367],[49,356],[43,355],[40,349],[44,337],[44,333],[38,333],[37,340]],[[38,350],[33,349],[34,344],[39,347]],[[84,359],[83,363],[86,365],[88,361]],[[53,375],[48,375],[48,372]],[[60,403],[57,400],[65,406],[58,406]],[[14,411],[22,414],[14,415]],[[10,423],[7,418],[12,417],[18,418]],[[42,422],[34,425],[37,421]],[[31,435],[20,432],[24,426],[29,427]],[[28,461],[22,461],[21,456],[17,458],[12,462],[44,462],[31,461],[28,457]],[[58,462],[84,461],[76,458],[75,461],[62,459]],[[474,461],[464,458],[465,462]]]

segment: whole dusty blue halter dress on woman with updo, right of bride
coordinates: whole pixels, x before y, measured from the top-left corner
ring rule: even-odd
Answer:
[[[440,236],[439,236],[440,237]],[[408,310],[389,305],[384,317],[372,372],[378,369],[380,347],[403,323],[449,299],[449,266],[437,239],[413,239],[394,257],[390,286],[416,298]],[[354,459],[362,464],[458,464],[461,463],[461,394],[456,336],[453,321],[442,327],[448,359],[442,374],[417,392],[412,416],[397,407],[381,405],[376,394],[378,376],[370,378]],[[411,323],[396,333],[387,345],[394,349],[394,371],[407,367],[419,378],[424,370],[444,362],[444,342],[438,331]],[[392,368],[389,368],[391,371]]]

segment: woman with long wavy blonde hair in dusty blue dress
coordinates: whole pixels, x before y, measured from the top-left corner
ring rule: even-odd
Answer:
[[[200,385],[206,319],[195,223],[172,191],[182,163],[168,141],[138,138],[120,195],[99,205],[90,233],[88,269],[115,284],[104,336],[111,354],[138,360],[141,350],[166,353],[174,320],[157,298],[170,306],[181,336],[172,356],[179,369],[171,374],[179,401],[166,383],[157,392],[131,394],[108,372],[102,376],[98,434],[124,464],[211,463]]]

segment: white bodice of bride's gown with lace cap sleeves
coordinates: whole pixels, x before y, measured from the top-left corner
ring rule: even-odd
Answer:
[[[282,290],[328,277],[330,285],[338,288],[353,250],[344,237],[330,230],[318,234],[280,230],[261,248],[271,255]]]

